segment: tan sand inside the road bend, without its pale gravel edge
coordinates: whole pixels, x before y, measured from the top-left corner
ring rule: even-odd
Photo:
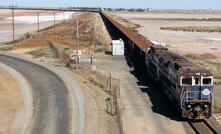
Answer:
[[[18,84],[5,70],[0,68],[0,133],[11,131],[17,112],[23,105]]]

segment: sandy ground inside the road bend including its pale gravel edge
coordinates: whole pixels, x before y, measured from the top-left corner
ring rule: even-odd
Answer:
[[[1,133],[23,134],[32,117],[32,93],[27,80],[16,70],[0,63]],[[22,123],[21,123],[22,122]]]

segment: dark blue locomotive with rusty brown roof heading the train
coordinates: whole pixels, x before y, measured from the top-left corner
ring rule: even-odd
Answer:
[[[210,71],[157,45],[148,47],[145,65],[183,118],[198,120],[211,116],[213,74]]]

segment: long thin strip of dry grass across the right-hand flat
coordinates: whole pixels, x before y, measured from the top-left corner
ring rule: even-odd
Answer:
[[[162,30],[185,31],[185,32],[218,32],[221,33],[220,26],[186,26],[186,27],[161,27]]]

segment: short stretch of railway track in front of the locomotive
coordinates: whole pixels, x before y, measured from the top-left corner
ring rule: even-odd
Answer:
[[[190,127],[196,134],[218,134],[215,128],[207,121],[188,121]]]

